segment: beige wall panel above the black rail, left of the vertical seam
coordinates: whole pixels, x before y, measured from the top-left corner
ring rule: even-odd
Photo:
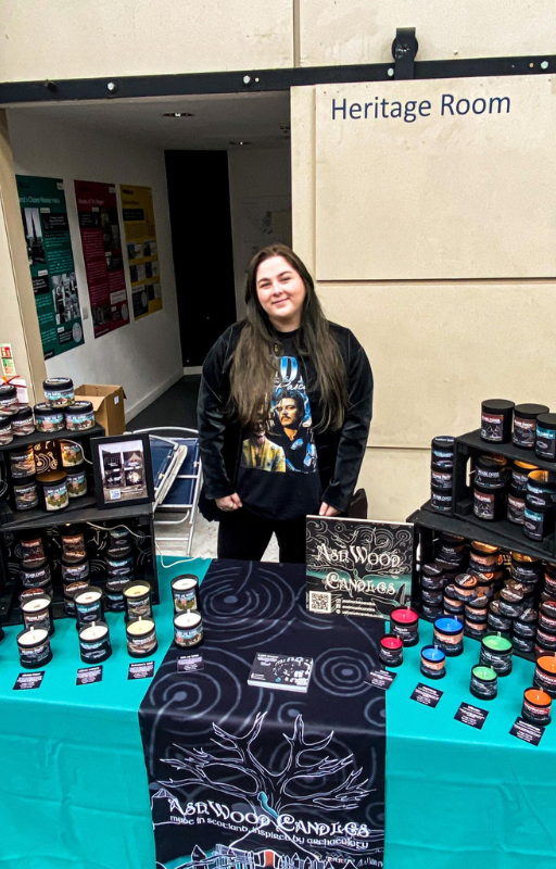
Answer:
[[[292,66],[292,1],[2,0],[0,81]]]

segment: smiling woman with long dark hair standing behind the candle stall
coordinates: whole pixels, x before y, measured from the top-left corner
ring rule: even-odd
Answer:
[[[219,519],[219,558],[260,561],[275,532],[280,561],[303,563],[305,517],[350,505],[372,374],[353,333],[325,318],[311,275],[285,244],[253,257],[245,302],[245,319],[203,365],[202,509]]]

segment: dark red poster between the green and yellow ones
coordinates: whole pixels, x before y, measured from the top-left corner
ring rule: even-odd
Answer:
[[[75,197],[94,338],[100,338],[129,323],[116,188],[76,181]]]

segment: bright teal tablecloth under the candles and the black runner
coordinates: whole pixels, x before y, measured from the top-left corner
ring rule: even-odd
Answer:
[[[159,566],[156,665],[172,641],[169,581],[210,562],[165,556]],[[174,564],[175,562],[175,564]],[[172,566],[174,564],[174,566]],[[130,658],[122,616],[108,621],[114,654],[103,681],[76,687],[75,625],[56,621],[53,660],[42,685],[13,691],[21,672],[15,635],[0,644],[0,869],[154,869],[154,847],[137,710],[146,681],[127,681]],[[421,643],[405,651],[388,692],[387,869],[523,869],[526,860],[556,869],[556,721],[538,747],[509,735],[533,665],[516,658],[498,698],[469,694],[478,644],[448,660],[435,709],[409,700],[419,681]],[[481,731],[454,715],[459,703],[489,709]],[[556,716],[555,716],[556,717]]]

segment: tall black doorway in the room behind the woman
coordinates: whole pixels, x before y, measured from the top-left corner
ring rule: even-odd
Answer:
[[[184,367],[236,320],[228,154],[165,151]]]

